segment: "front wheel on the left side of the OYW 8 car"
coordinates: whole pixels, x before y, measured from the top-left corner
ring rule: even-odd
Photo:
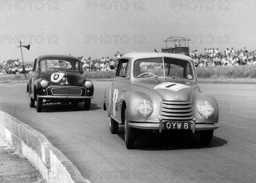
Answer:
[[[128,123],[127,109],[125,109],[125,145],[127,149],[132,149],[135,144],[135,130],[129,127]]]

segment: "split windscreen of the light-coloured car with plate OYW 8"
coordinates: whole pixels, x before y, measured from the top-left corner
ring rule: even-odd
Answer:
[[[137,59],[134,62],[134,77],[171,76],[194,79],[190,62],[168,57]]]

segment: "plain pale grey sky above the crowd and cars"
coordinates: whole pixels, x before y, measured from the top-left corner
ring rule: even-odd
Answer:
[[[191,39],[189,50],[256,49],[255,0],[1,0],[0,63],[33,62],[44,54],[101,59],[161,52],[172,36]],[[179,43],[176,43],[179,44]],[[184,42],[181,43],[184,45]],[[168,47],[174,43],[168,42]]]

